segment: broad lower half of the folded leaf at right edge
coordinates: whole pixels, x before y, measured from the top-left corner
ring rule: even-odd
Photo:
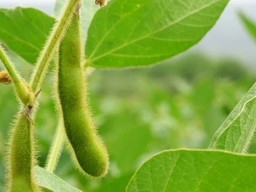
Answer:
[[[255,118],[256,97],[244,104],[241,113],[221,133],[212,148],[237,153],[246,152],[255,132]]]

